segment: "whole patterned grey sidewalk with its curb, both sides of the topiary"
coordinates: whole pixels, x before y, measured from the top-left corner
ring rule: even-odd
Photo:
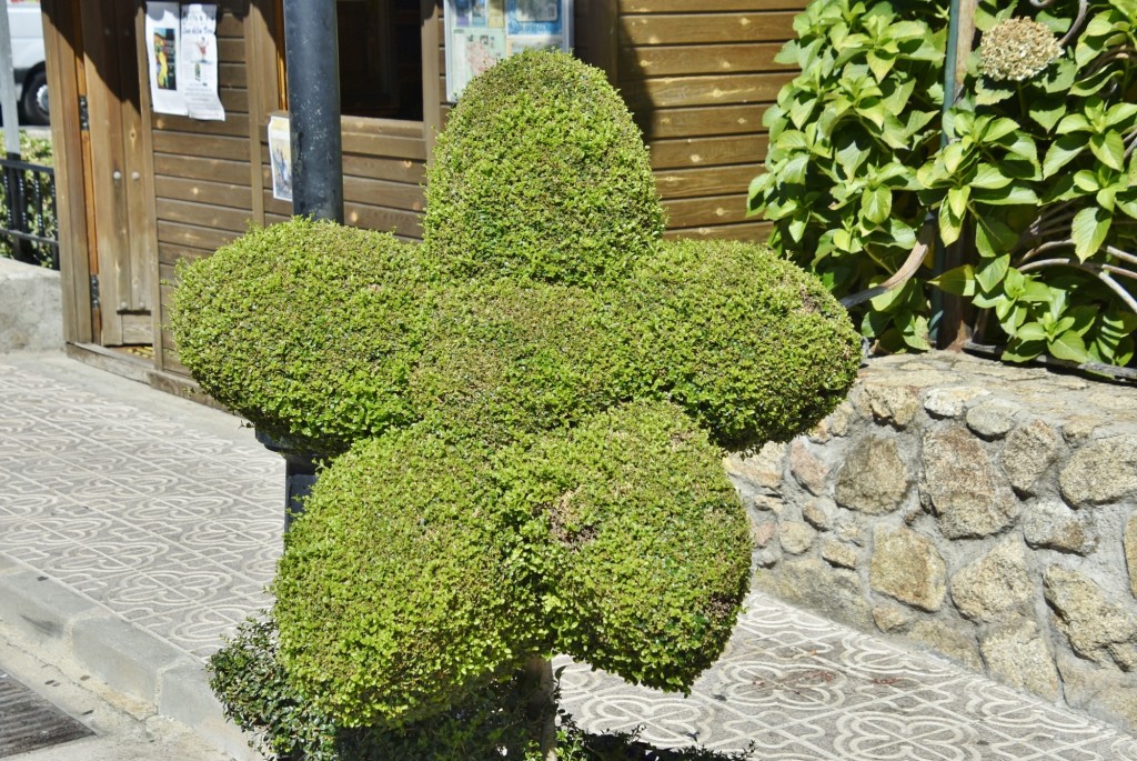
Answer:
[[[0,634],[246,756],[201,663],[268,602],[283,472],[230,415],[0,356]],[[757,594],[691,697],[580,665],[564,696],[589,729],[762,761],[1137,761],[1110,726]]]

